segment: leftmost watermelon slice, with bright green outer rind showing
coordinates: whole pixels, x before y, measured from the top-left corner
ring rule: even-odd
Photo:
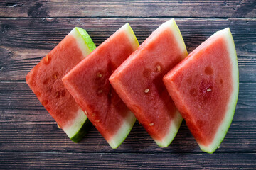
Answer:
[[[95,44],[86,31],[75,27],[26,76],[28,86],[74,142],[85,135],[89,120],[61,78],[94,49]]]

